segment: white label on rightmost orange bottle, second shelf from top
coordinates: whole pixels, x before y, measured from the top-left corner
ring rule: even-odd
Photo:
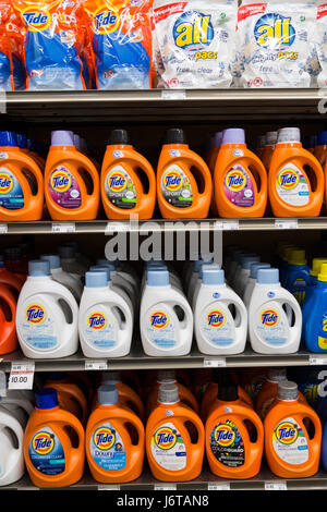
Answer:
[[[305,174],[293,163],[283,166],[276,179],[279,197],[290,206],[308,204],[308,183]]]

